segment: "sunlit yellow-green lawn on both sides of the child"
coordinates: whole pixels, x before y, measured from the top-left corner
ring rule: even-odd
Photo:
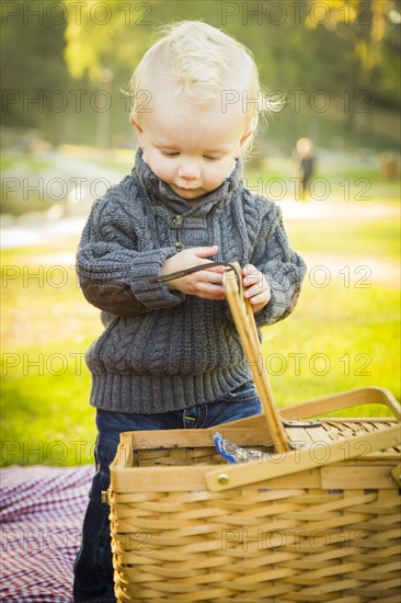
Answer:
[[[397,223],[289,221],[287,230],[309,274],[295,312],[264,330],[277,406],[371,385],[399,398]],[[2,464],[92,460],[94,410],[83,354],[102,326],[68,268],[76,244],[3,252]]]

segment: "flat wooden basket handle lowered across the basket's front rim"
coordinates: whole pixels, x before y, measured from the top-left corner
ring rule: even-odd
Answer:
[[[388,450],[398,446],[401,442],[400,425],[386,428],[379,431],[364,433],[348,440],[341,440],[326,444],[329,457],[325,454],[323,460],[318,460],[311,454],[311,448],[306,447],[298,451],[273,454],[268,458],[244,463],[242,465],[227,465],[222,468],[213,469],[205,475],[208,489],[211,492],[238,488],[248,483],[265,481],[308,469],[316,469],[318,466],[331,465],[353,458],[363,458],[366,454]],[[319,443],[314,443],[314,446]]]

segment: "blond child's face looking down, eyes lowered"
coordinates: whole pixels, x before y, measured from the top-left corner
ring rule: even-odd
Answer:
[[[249,134],[241,103],[222,112],[219,102],[199,106],[165,89],[133,125],[152,172],[187,201],[220,186]]]

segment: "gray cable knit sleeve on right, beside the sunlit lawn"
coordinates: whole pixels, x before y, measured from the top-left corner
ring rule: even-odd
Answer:
[[[280,208],[268,204],[252,252],[251,262],[267,278],[272,297],[256,316],[256,323],[272,325],[295,308],[306,273],[303,260],[289,247]]]

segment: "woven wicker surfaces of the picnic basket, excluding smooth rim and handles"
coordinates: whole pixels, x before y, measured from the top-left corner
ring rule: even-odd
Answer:
[[[321,443],[322,432],[335,440],[388,424],[333,420],[302,434]],[[299,429],[288,431],[299,437]],[[388,471],[386,458],[394,465],[397,450],[366,457],[365,465]],[[131,465],[138,471],[164,466],[173,481],[180,466],[219,462],[211,447],[185,447],[139,451]],[[118,601],[399,603],[396,482],[337,489],[332,479],[330,489],[302,487],[295,476],[298,488],[285,490],[256,483],[224,492],[112,492]]]

